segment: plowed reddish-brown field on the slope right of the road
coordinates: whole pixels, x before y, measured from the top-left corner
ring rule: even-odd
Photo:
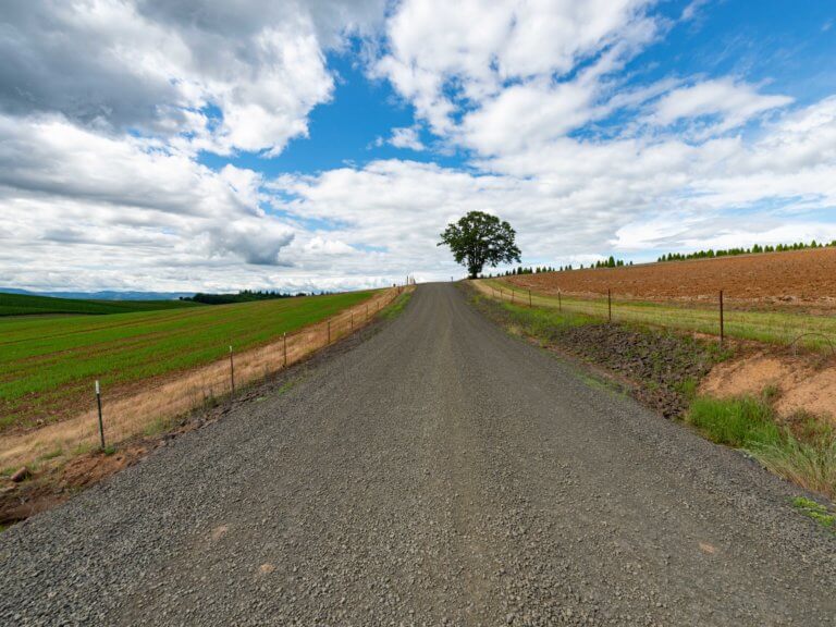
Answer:
[[[522,274],[514,285],[544,294],[606,294],[642,300],[713,300],[836,309],[836,248]]]

